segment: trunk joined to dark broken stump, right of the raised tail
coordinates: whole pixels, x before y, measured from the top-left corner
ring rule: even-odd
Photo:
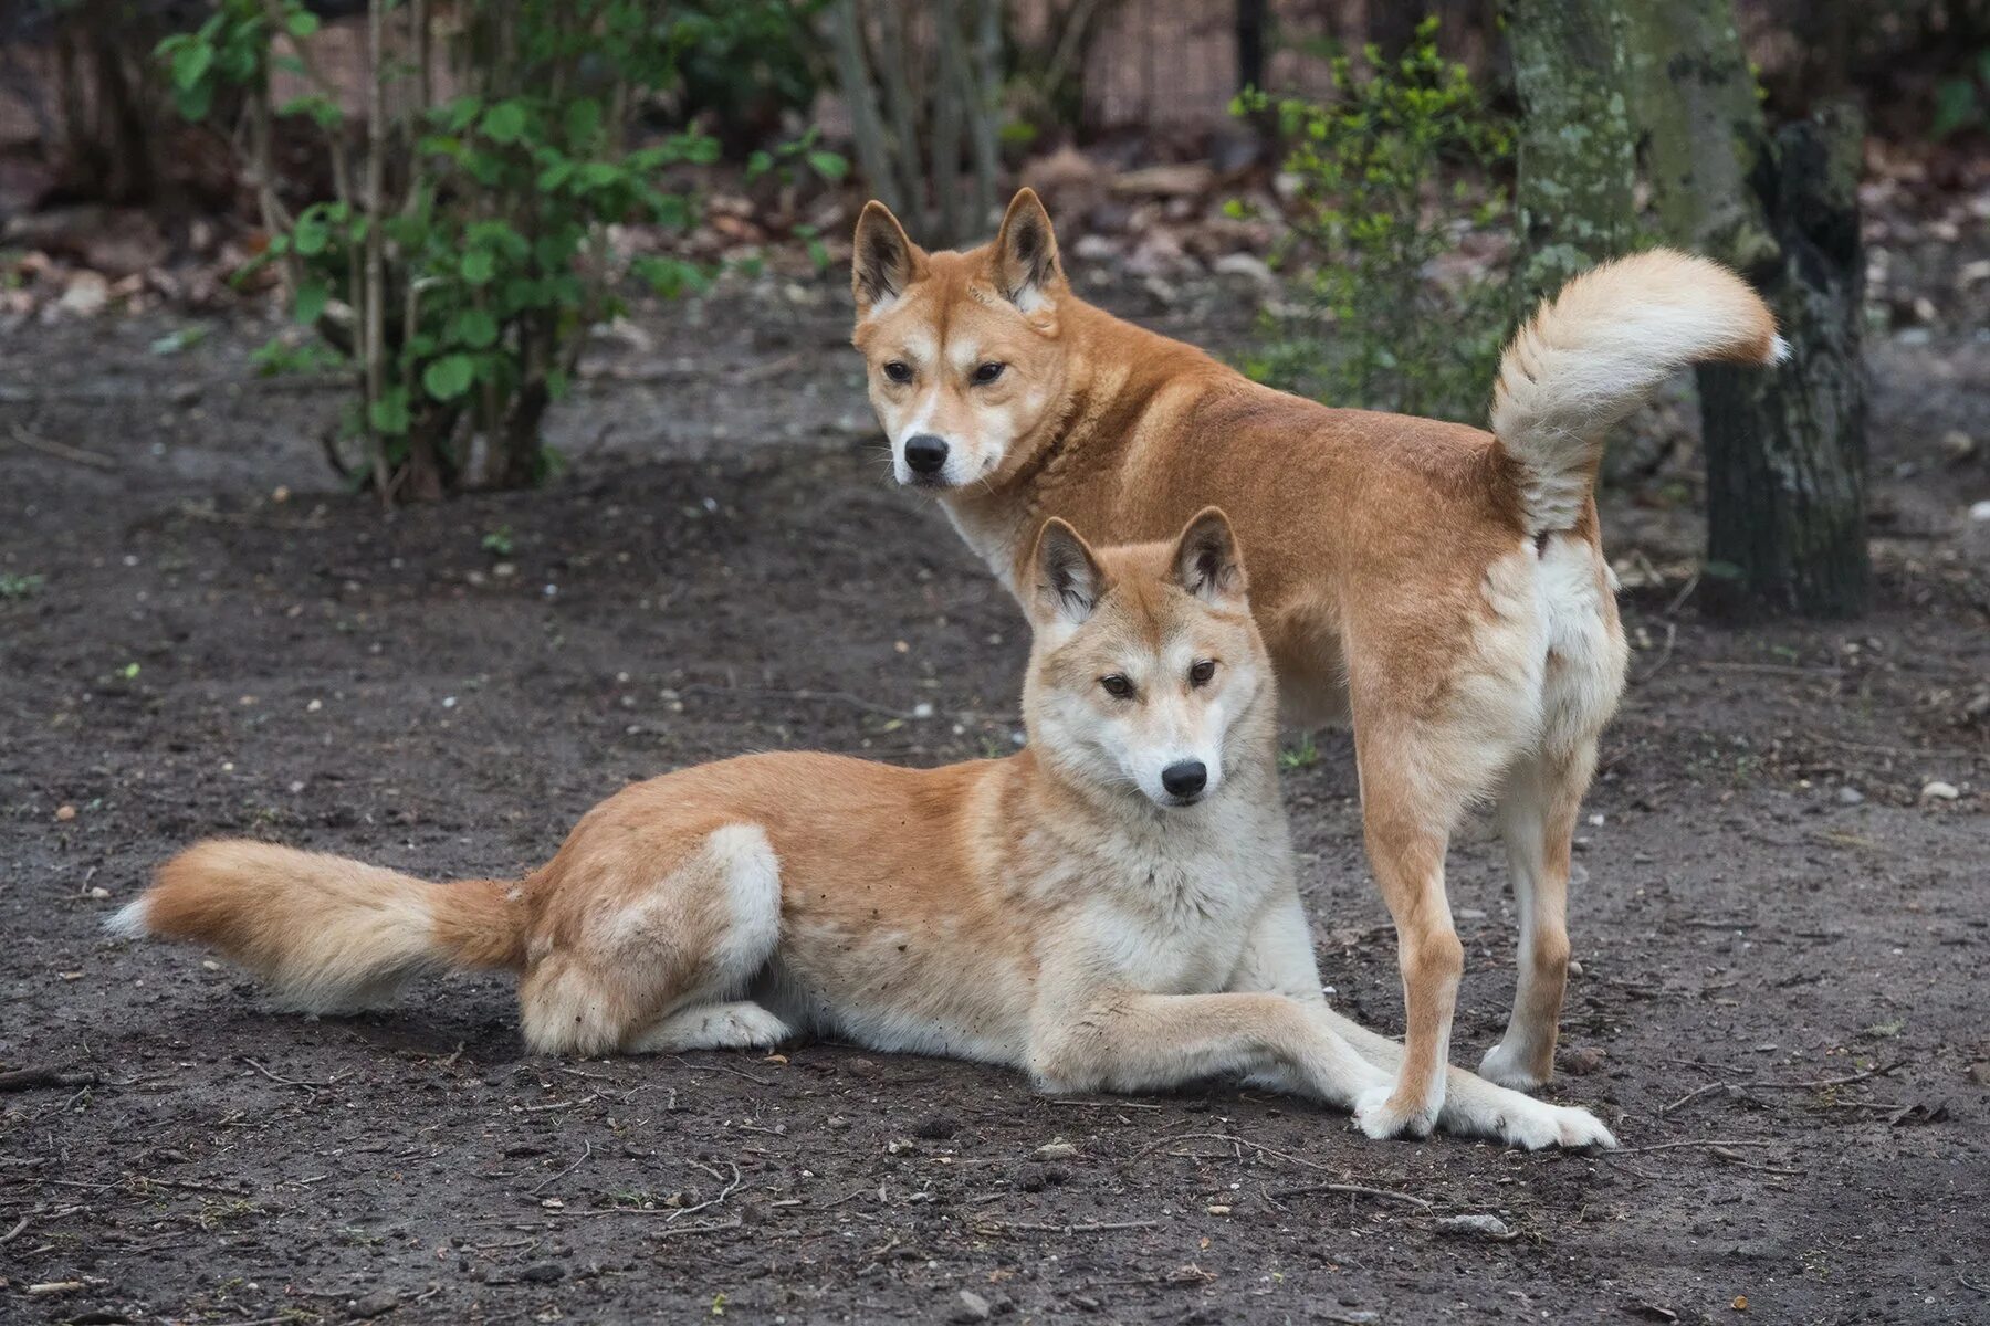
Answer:
[[[1632,85],[1668,239],[1739,268],[1787,364],[1699,370],[1705,606],[1855,616],[1871,596],[1859,366],[1859,141],[1847,111],[1775,139],[1731,0],[1630,6]]]

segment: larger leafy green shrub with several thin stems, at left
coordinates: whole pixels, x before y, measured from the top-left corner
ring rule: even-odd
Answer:
[[[237,141],[259,183],[269,250],[297,322],[314,338],[271,342],[267,370],[350,372],[356,400],[340,439],[384,501],[436,497],[472,481],[525,485],[555,457],[539,425],[571,382],[587,326],[619,310],[607,227],[695,219],[695,167],[714,139],[685,129],[631,147],[629,125],[679,83],[702,28],[645,0],[372,0],[380,95],[348,123],[306,38],[302,0],[221,0],[191,34],[159,44],[181,111],[245,109]],[[432,87],[444,40],[456,95]],[[438,46],[440,50],[440,46]],[[304,80],[281,105],[271,74]],[[368,93],[374,89],[368,87]],[[378,109],[378,119],[372,113]],[[308,127],[330,153],[334,195],[291,209],[273,139]],[[665,296],[696,290],[696,264],[633,264]]]

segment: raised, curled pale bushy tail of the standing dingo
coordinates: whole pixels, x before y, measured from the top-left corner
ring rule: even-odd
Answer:
[[[1528,533],[1576,523],[1604,433],[1672,372],[1787,354],[1775,314],[1719,262],[1654,249],[1570,280],[1506,346],[1492,392],[1492,433],[1520,465]]]

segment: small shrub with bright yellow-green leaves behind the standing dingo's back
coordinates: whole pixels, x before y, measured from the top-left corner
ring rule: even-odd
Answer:
[[[1292,233],[1274,254],[1295,308],[1268,312],[1244,364],[1260,382],[1329,406],[1481,421],[1506,332],[1494,274],[1439,282],[1431,264],[1455,223],[1504,209],[1491,185],[1510,135],[1465,66],[1437,54],[1437,20],[1385,62],[1333,60],[1337,99],[1274,101],[1246,91],[1232,113],[1276,113],[1295,177]],[[1475,201],[1477,199],[1477,201]]]

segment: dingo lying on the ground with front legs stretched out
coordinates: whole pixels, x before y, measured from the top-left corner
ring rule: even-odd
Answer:
[[[1051,1091],[1248,1076],[1377,1107],[1403,1050],[1321,998],[1230,523],[1210,509],[1174,543],[1093,553],[1051,521],[1031,565],[1029,746],[1007,759],[683,769],[597,805],[523,883],[203,843],[113,928],[211,944],[308,1010],[432,968],[515,970],[539,1052],[824,1032]],[[1588,1111],[1469,1074],[1439,1125],[1614,1145]]]

